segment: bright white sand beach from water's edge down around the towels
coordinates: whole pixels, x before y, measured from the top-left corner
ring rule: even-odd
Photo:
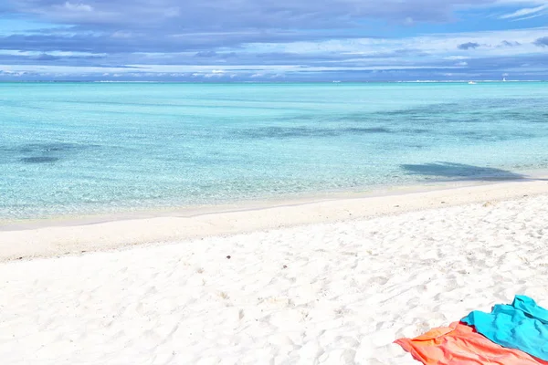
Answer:
[[[537,180],[5,226],[0,359],[415,364],[395,339],[515,294],[548,306],[547,217]]]

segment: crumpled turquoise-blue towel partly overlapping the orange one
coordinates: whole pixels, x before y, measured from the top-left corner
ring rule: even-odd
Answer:
[[[505,348],[548,361],[548,310],[531,297],[516,296],[511,306],[498,304],[490,313],[475,310],[462,322]]]

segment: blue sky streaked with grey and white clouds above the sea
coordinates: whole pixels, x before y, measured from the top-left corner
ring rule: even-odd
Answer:
[[[548,0],[0,0],[0,81],[548,79]]]

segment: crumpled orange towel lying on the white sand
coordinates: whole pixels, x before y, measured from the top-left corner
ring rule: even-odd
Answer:
[[[396,339],[395,343],[425,365],[548,365],[519,349],[503,348],[458,322],[431,329],[415,339]]]

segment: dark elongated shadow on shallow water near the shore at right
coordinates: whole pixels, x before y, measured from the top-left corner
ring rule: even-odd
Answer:
[[[521,173],[507,170],[494,169],[492,167],[480,167],[453,162],[433,162],[424,164],[403,164],[401,168],[410,175],[435,176],[454,180],[482,180],[482,181],[505,181],[505,180],[538,180],[530,178]]]

